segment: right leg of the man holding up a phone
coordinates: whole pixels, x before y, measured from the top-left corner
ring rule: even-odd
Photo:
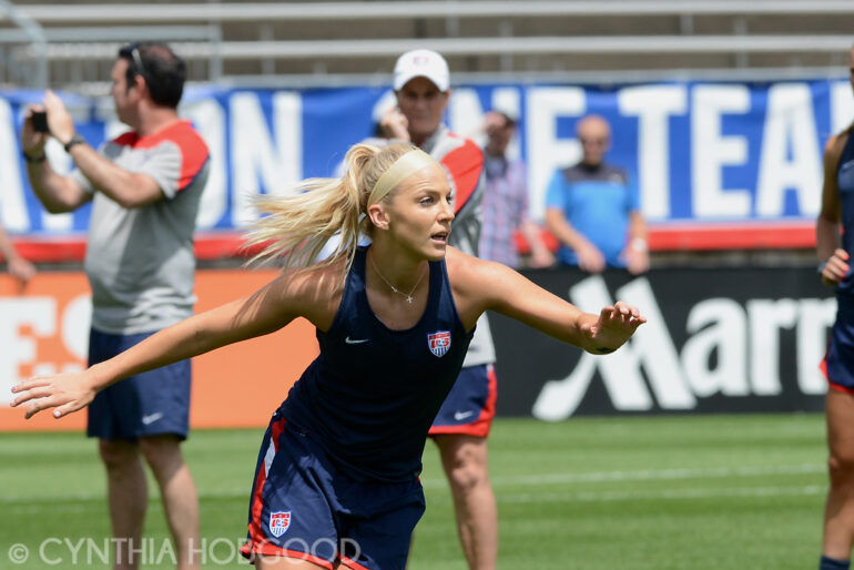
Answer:
[[[181,454],[181,441],[173,435],[140,438],[140,447],[149,462],[163,497],[179,570],[200,568],[199,496],[190,468]]]

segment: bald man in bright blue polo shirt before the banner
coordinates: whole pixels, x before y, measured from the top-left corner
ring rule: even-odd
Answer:
[[[611,128],[601,116],[587,115],[576,132],[581,162],[555,172],[546,193],[546,224],[561,244],[558,258],[589,273],[606,267],[643,273],[649,251],[638,189],[626,171],[603,162]]]

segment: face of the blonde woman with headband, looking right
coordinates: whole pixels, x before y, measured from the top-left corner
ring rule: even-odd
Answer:
[[[448,174],[438,163],[405,179],[388,202],[382,203],[388,236],[419,256],[445,257],[454,208]],[[379,204],[377,204],[379,205]]]

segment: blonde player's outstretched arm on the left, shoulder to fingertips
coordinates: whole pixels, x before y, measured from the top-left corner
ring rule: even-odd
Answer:
[[[27,418],[55,407],[53,415],[59,418],[83,408],[98,391],[122,378],[272,333],[301,314],[316,322],[317,314],[312,309],[299,311],[303,302],[312,302],[306,293],[307,272],[283,274],[248,297],[176,323],[81,373],[24,380],[12,388],[18,394],[12,406],[29,403]]]

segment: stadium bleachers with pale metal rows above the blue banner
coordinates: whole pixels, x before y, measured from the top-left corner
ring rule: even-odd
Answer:
[[[143,38],[172,41],[192,80],[234,83],[385,82],[426,45],[469,81],[815,74],[846,64],[852,21],[848,0],[0,0],[0,84],[102,81],[118,44]]]

